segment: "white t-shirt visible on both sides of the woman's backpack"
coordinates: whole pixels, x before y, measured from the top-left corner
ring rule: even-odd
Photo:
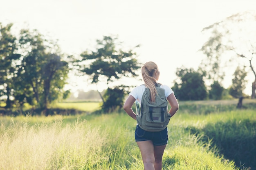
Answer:
[[[161,88],[164,89],[164,94],[165,97],[167,98],[170,94],[173,93],[173,90],[168,87],[167,85],[161,85]],[[141,98],[142,98],[142,94],[145,91],[146,87],[144,85],[139,85],[137,87],[135,87],[130,93],[129,95],[133,96],[135,98],[135,100],[138,100],[138,102],[141,102]]]

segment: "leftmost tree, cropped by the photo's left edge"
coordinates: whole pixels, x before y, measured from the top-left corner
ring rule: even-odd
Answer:
[[[12,26],[2,26],[0,23],[0,96],[7,96],[6,108],[11,108],[13,78],[17,73],[16,63],[20,59],[16,37],[11,34]]]

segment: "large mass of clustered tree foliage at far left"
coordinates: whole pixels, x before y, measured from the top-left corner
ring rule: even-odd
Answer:
[[[22,29],[12,35],[13,24],[0,24],[0,96],[7,96],[6,108],[22,113],[28,103],[47,109],[64,92],[69,66],[58,46],[37,30]],[[11,110],[10,110],[11,111]]]

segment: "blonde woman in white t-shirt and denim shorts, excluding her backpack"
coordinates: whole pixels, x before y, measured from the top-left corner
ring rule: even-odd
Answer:
[[[145,85],[135,87],[132,92],[130,92],[128,98],[124,103],[124,110],[130,117],[135,120],[136,114],[131,108],[133,103],[135,102],[135,100],[141,102],[142,94],[145,91],[146,87],[150,89],[151,100],[155,100],[155,83],[158,81],[160,74],[157,65],[152,61],[145,63],[141,68],[141,72]],[[167,85],[161,85],[160,87],[164,88],[165,96],[171,105],[169,113],[171,114],[171,116],[173,116],[179,109],[179,104],[173,93],[173,90]],[[167,127],[160,132],[148,132],[141,129],[137,124],[135,130],[135,141],[137,142],[141,152],[144,169],[161,170],[162,157],[164,154],[164,149],[166,148],[166,144],[168,142]]]

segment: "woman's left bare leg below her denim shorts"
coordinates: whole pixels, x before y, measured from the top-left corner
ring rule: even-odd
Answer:
[[[144,170],[155,170],[154,145],[151,140],[137,142],[144,163]]]

